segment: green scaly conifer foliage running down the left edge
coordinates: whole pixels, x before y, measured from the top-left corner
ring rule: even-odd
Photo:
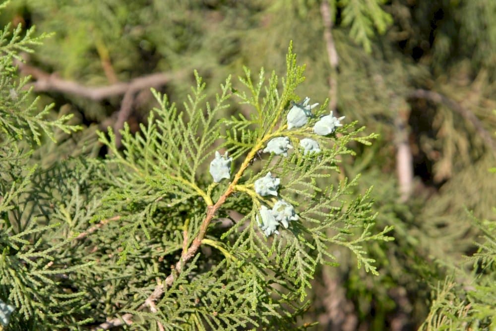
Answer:
[[[30,163],[33,149],[42,144],[42,132],[54,139],[54,129],[76,131],[78,126],[65,122],[72,115],[46,119],[53,106],[38,110],[37,99],[25,90],[27,79],[19,79],[14,59],[19,52],[31,52],[46,35],[33,38],[34,29],[21,35],[6,26],[0,32],[0,298],[15,306],[10,324],[17,329],[47,330],[84,324],[75,315],[86,310],[82,291],[68,291],[61,286],[70,273],[87,268],[89,263],[67,266],[60,252],[72,237],[53,237],[60,222],[43,225],[40,209],[42,196],[33,194],[33,180],[40,169]],[[23,139],[24,141],[20,141]]]

